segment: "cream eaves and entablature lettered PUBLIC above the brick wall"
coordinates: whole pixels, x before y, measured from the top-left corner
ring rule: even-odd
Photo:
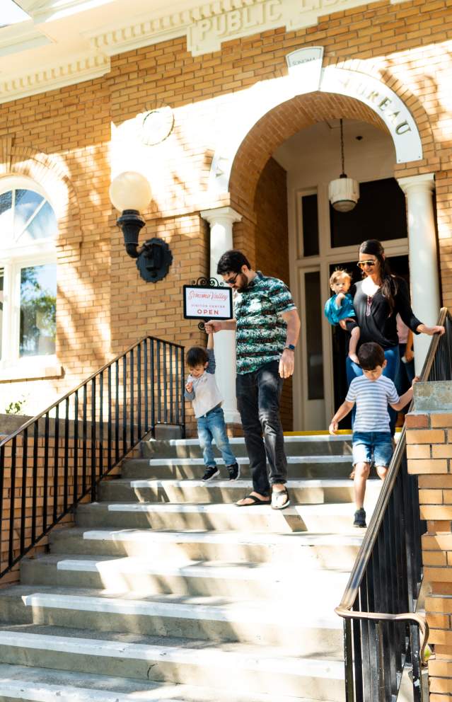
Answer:
[[[368,4],[376,1],[368,0]],[[102,76],[110,70],[110,57],[165,40],[185,35],[187,50],[202,55],[220,50],[223,42],[258,32],[315,25],[319,16],[362,6],[364,0],[208,0],[191,7],[190,0],[173,0],[166,11],[161,6],[156,8],[152,0],[142,0],[142,4],[134,0],[132,16],[127,14],[127,2],[18,0],[33,17],[35,27],[30,23],[22,28],[15,25],[17,29],[7,28],[7,33],[0,33],[0,103]],[[121,21],[112,24],[110,18],[110,23],[102,23],[102,18],[109,17],[109,6],[111,11],[115,8],[115,16]],[[139,7],[141,13],[137,13]],[[94,29],[86,31],[89,27]],[[48,52],[45,54],[49,47],[39,45],[45,42],[40,40],[40,30],[45,30],[42,37],[47,35],[52,41],[56,56],[51,65],[52,59]],[[31,32],[29,45],[25,41],[27,31]],[[68,31],[76,59],[66,56],[64,32]],[[6,59],[2,59],[8,49],[16,58],[14,69],[8,69]],[[17,59],[22,52],[21,65],[35,67],[33,71],[19,67]]]

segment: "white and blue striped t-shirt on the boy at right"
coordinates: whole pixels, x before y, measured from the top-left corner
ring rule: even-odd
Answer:
[[[357,405],[354,432],[390,432],[388,403],[395,405],[400,401],[390,378],[384,375],[378,380],[369,380],[365,375],[354,378],[345,400]]]

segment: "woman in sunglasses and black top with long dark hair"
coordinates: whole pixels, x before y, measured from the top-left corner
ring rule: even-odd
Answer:
[[[361,243],[358,265],[363,280],[357,282],[350,292],[361,330],[359,345],[371,341],[381,345],[386,359],[383,375],[394,381],[400,364],[397,314],[415,334],[444,334],[444,327],[428,327],[417,319],[411,309],[407,283],[390,272],[385,250],[379,241],[369,239]],[[347,382],[350,384],[356,376],[362,375],[362,370],[348,356],[346,363]],[[392,408],[388,411],[393,435],[397,413]]]

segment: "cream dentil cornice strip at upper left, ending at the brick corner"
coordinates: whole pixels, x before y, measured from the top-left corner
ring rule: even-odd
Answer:
[[[0,75],[0,102],[55,90],[92,80],[110,71],[110,59],[102,54],[81,54],[61,64],[38,67],[23,74]]]

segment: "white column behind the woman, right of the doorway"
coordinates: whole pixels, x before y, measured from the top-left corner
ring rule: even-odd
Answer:
[[[408,248],[410,254],[410,284],[412,309],[427,326],[438,318],[439,270],[436,251],[436,231],[431,193],[435,182],[432,173],[398,178],[407,199]],[[427,356],[431,337],[415,337],[415,368],[419,374]]]

